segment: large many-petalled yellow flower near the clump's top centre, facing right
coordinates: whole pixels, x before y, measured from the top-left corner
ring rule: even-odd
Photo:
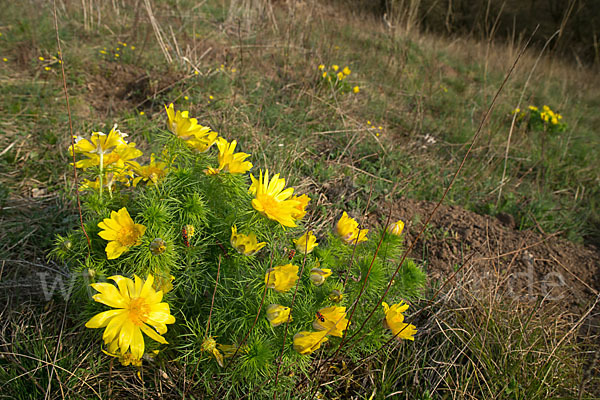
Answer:
[[[250,174],[252,185],[248,191],[255,195],[252,200],[252,207],[269,219],[279,222],[283,226],[296,226],[297,215],[299,214],[298,206],[300,200],[290,199],[294,193],[293,188],[285,187],[285,179],[279,178],[279,174],[275,174],[269,180],[269,170],[265,171],[263,177],[262,170],[258,179]]]

